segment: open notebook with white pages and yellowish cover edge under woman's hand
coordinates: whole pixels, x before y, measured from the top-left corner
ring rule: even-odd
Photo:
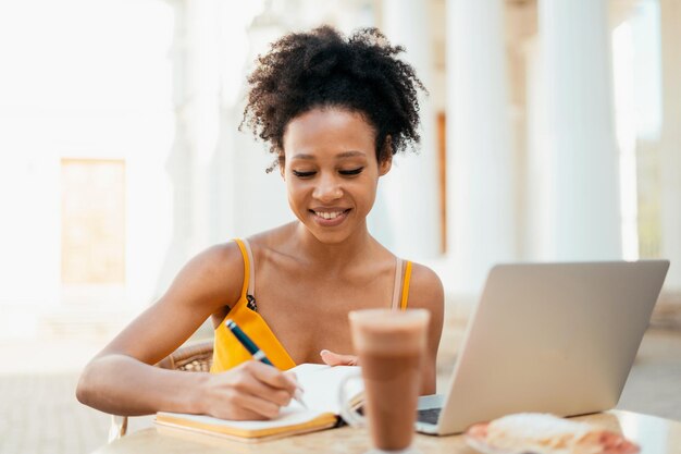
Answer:
[[[282,408],[276,419],[267,421],[235,421],[206,415],[159,412],[156,424],[194,430],[246,442],[269,440],[297,433],[312,432],[337,426],[340,405],[338,389],[347,376],[359,375],[357,366],[330,367],[318,364],[302,364],[290,369],[296,373],[305,390],[302,400],[308,408],[298,402]],[[356,405],[361,402],[361,380],[350,380],[347,395]]]

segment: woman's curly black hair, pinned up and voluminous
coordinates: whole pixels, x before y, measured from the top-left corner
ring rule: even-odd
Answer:
[[[339,107],[373,125],[379,162],[388,152],[413,149],[420,140],[417,89],[428,90],[413,68],[395,57],[404,50],[377,28],[361,28],[347,39],[329,25],[285,35],[258,57],[239,130],[249,126],[282,163],[290,120],[314,108]]]

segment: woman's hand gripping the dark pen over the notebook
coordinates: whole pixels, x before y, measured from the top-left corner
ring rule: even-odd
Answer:
[[[272,419],[288,405],[297,386],[295,376],[249,360],[208,376],[199,393],[201,413],[222,419]]]

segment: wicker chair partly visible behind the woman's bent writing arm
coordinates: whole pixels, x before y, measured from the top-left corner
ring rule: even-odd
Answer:
[[[213,361],[213,341],[184,345],[161,359],[156,366],[161,369],[208,372]],[[120,439],[127,432],[127,416],[111,416],[109,442]]]

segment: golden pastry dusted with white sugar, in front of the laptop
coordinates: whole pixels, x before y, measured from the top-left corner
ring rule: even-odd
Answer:
[[[639,445],[586,422],[519,413],[471,426],[468,443],[486,454],[635,454]]]

